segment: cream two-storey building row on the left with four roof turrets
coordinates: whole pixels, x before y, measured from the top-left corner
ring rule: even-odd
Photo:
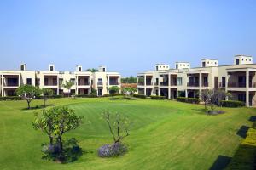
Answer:
[[[65,94],[65,82],[73,82],[71,94],[90,94],[96,89],[97,95],[108,94],[111,86],[121,87],[119,72],[109,72],[100,66],[96,72],[83,71],[81,65],[75,71],[55,71],[55,65],[49,65],[48,71],[28,71],[26,64],[21,64],[18,71],[0,71],[0,96],[15,95],[15,90],[23,84],[31,84],[38,88],[51,88],[55,94]]]

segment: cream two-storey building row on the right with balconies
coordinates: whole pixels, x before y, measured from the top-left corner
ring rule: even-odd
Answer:
[[[168,68],[168,69],[166,69]],[[224,89],[232,99],[256,106],[256,64],[253,58],[236,55],[233,65],[218,65],[216,59],[201,59],[201,66],[190,68],[188,62],[176,62],[175,69],[158,64],[154,71],[137,74],[138,94],[197,97],[205,89]]]

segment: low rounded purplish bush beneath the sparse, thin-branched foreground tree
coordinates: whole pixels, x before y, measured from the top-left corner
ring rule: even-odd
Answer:
[[[98,150],[98,156],[100,157],[113,157],[113,156],[123,156],[127,148],[124,144],[114,143],[114,144],[105,144]]]

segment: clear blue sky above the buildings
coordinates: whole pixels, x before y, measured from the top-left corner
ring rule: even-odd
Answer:
[[[0,70],[106,65],[123,77],[201,59],[255,56],[256,1],[2,0]]]

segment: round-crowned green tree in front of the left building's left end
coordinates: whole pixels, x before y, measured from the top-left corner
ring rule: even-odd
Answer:
[[[19,95],[22,99],[26,100],[27,109],[30,109],[30,103],[32,102],[32,99],[38,97],[41,94],[41,91],[38,87],[26,84],[17,88],[16,94]]]

